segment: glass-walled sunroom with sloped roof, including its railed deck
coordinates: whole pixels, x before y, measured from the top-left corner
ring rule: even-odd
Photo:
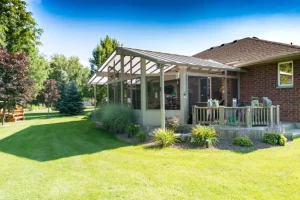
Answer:
[[[89,83],[106,84],[108,103],[130,106],[145,126],[164,128],[165,118],[175,116],[182,125],[275,123],[276,108],[250,107],[248,113],[237,107],[244,72],[213,60],[117,47]]]

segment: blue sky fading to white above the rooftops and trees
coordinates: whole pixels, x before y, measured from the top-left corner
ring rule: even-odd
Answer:
[[[194,55],[245,37],[300,45],[300,0],[26,0],[41,53],[89,66],[106,35],[123,46]]]

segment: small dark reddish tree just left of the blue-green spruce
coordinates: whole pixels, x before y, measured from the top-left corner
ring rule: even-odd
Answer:
[[[49,108],[52,109],[53,103],[57,102],[60,98],[59,90],[56,87],[56,81],[53,79],[44,81],[44,89],[41,90],[40,95],[43,97],[45,104],[48,107],[48,116]]]

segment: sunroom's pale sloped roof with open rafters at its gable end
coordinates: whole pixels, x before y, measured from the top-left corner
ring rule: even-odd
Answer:
[[[122,58],[124,58],[123,62],[121,62]],[[110,78],[110,73],[121,72],[121,65],[124,66],[124,72],[122,73],[123,77],[138,76],[141,74],[141,58],[146,60],[146,74],[158,74],[160,72],[160,68],[158,67],[159,65],[165,66],[165,72],[168,72],[176,66],[185,66],[198,69],[201,68],[209,71],[245,72],[243,69],[224,65],[213,60],[205,60],[191,56],[161,53],[141,49],[117,47],[100,66],[97,72],[90,78],[88,83],[97,85],[107,83]]]

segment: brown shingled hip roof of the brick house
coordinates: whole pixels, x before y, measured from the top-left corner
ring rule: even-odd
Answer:
[[[247,37],[212,47],[194,57],[212,59],[231,66],[243,66],[295,54],[300,55],[300,46]]]

